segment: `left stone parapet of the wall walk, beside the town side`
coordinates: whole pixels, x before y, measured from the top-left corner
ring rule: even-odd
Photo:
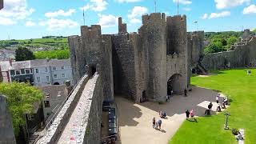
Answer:
[[[46,134],[40,135],[40,139],[36,143],[54,144],[55,142],[57,142],[59,136],[62,134],[62,130],[64,130],[66,123],[69,121],[75,106],[77,106],[78,100],[82,94],[82,90],[84,89],[88,80],[88,75],[84,75],[81,78],[81,80],[78,82],[78,85],[74,88],[74,91],[70,95],[70,98],[68,98],[68,100],[62,107],[62,110],[60,110],[57,117],[54,119],[54,122],[47,129]]]

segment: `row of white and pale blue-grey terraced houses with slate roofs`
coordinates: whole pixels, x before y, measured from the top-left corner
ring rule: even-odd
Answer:
[[[70,59],[38,59],[22,62],[0,62],[3,82],[29,82],[33,86],[73,83]]]

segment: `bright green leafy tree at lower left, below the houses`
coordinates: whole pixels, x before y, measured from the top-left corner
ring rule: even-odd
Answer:
[[[7,98],[7,106],[17,136],[19,127],[25,125],[24,114],[32,113],[34,102],[42,100],[42,91],[25,83],[0,83],[0,94]]]

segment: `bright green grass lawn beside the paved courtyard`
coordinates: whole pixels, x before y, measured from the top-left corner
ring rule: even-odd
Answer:
[[[230,112],[230,128],[245,129],[246,144],[256,143],[256,69],[251,75],[246,70],[214,71],[210,77],[193,77],[195,86],[220,90],[232,100],[226,110]],[[196,122],[183,122],[170,144],[234,144],[237,143],[231,130],[223,130],[223,113],[198,118]]]

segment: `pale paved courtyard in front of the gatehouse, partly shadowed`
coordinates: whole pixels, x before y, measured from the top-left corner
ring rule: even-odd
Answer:
[[[188,97],[174,96],[170,102],[159,105],[154,102],[135,104],[126,98],[115,97],[118,105],[118,125],[122,144],[167,144],[170,138],[186,120],[185,111],[193,109],[197,116],[203,116],[207,106],[213,102],[212,110],[216,110],[218,104],[215,98],[218,92],[193,87]],[[222,98],[220,100],[222,102]],[[158,112],[166,111],[167,118],[162,118],[162,130],[152,128],[152,118],[158,121]],[[212,111],[211,114],[215,112]],[[194,122],[196,124],[196,122]]]

